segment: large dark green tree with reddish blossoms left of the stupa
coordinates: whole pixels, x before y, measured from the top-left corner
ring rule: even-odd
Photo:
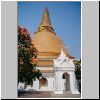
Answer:
[[[42,76],[40,70],[36,69],[37,54],[27,29],[18,26],[18,83],[32,84],[33,79]]]

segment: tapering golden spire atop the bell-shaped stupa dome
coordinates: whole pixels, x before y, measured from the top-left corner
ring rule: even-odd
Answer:
[[[45,7],[44,14],[42,16],[42,20],[41,20],[41,23],[40,23],[37,31],[41,31],[43,29],[47,29],[47,30],[52,31],[52,32],[54,31],[53,27],[51,25],[49,11],[48,11],[47,6]]]

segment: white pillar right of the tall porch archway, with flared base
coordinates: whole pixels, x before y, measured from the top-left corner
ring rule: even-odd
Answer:
[[[70,72],[70,90],[73,94],[80,94],[79,91],[76,89],[75,83],[75,73],[74,71]]]

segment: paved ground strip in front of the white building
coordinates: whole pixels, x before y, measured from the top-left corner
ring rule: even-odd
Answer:
[[[64,94],[54,94],[53,91],[19,91],[18,98],[81,98],[81,94],[72,94],[64,91]]]

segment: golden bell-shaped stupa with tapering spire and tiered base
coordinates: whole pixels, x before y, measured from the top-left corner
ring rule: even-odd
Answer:
[[[63,42],[54,32],[47,7],[44,10],[40,26],[32,37],[32,43],[39,52],[37,56],[39,60],[38,66],[53,67],[53,59],[59,56],[62,48],[67,57],[74,58],[64,48]]]

